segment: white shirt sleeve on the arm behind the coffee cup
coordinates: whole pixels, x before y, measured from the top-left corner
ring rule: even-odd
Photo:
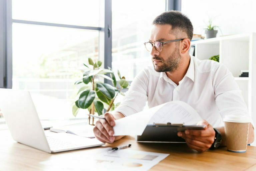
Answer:
[[[253,127],[252,118],[244,102],[242,92],[236,83],[232,73],[223,65],[216,65],[213,76],[213,88],[215,102],[219,109],[222,119],[226,115],[239,114],[250,118]]]

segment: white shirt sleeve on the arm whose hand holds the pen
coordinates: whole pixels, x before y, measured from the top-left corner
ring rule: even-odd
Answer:
[[[148,99],[147,90],[149,76],[149,71],[144,69],[133,79],[128,92],[115,112],[129,116],[143,110]]]

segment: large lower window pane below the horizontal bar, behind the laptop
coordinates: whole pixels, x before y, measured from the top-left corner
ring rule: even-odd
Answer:
[[[99,31],[21,23],[12,28],[13,89],[31,92],[41,119],[73,117],[74,82],[89,57],[98,59]]]

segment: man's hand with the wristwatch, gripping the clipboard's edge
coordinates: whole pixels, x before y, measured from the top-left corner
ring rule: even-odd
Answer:
[[[178,132],[178,136],[185,139],[190,148],[204,152],[214,142],[215,131],[206,120],[200,121],[197,125],[205,125],[205,128],[203,130],[187,129],[185,132]]]

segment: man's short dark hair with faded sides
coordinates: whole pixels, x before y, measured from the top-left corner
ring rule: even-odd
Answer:
[[[192,40],[193,37],[193,25],[189,18],[179,11],[166,11],[157,16],[152,24],[170,24],[172,29],[180,29],[188,35],[188,38]]]

